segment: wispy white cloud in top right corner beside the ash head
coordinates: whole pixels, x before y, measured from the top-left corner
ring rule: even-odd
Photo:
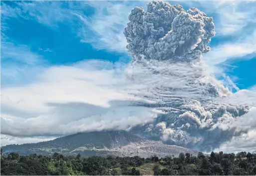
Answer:
[[[247,25],[256,26],[256,1],[254,0],[199,0],[185,1],[215,18],[217,36],[238,36]]]

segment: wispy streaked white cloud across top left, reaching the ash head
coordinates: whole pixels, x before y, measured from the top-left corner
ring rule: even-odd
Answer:
[[[70,30],[81,37],[81,42],[91,43],[98,49],[126,52],[124,26],[128,21],[131,9],[141,4],[145,5],[146,2],[32,1],[17,2],[14,6],[3,3],[1,25],[7,27],[4,19],[9,17],[35,19],[50,27],[57,27],[60,22],[67,21],[71,24]],[[93,15],[86,14],[88,8],[95,10]]]

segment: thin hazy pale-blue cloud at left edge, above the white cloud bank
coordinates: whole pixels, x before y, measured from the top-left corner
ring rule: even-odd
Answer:
[[[1,88],[34,80],[47,61],[26,45],[15,45],[1,38]]]

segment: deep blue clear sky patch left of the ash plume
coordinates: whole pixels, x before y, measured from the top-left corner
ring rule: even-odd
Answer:
[[[12,1],[2,3],[13,8],[19,7]],[[65,1],[61,2],[61,5],[65,6],[66,4]],[[86,16],[94,13],[93,9],[90,8],[83,9],[83,12]],[[16,46],[28,46],[31,52],[41,55],[48,65],[70,64],[84,59],[102,59],[115,62],[120,57],[127,57],[127,55],[119,52],[97,49],[90,43],[81,42],[81,37],[77,35],[76,31],[78,29],[75,29],[76,26],[79,28],[81,21],[76,17],[71,20],[56,21],[53,24],[47,24],[49,21],[46,24],[40,23],[33,17],[30,18],[29,15],[28,17],[6,16],[6,19],[3,20],[6,23],[3,25],[7,27],[2,32],[6,35],[4,42],[12,42]],[[90,29],[85,28],[85,30]],[[92,37],[93,32],[88,32],[86,35]]]

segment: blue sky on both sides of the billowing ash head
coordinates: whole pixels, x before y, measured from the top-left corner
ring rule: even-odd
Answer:
[[[25,45],[27,47],[27,52],[38,55],[38,63],[40,65],[45,64],[45,66],[72,64],[85,59],[101,59],[111,62],[116,62],[122,59],[125,63],[129,62],[130,57],[125,51],[123,44],[123,42],[125,42],[123,41],[124,39],[113,38],[113,41],[111,41],[111,38],[107,38],[104,43],[105,38],[102,36],[104,35],[104,31],[98,31],[99,29],[94,29],[91,26],[96,25],[96,28],[100,25],[104,25],[105,22],[108,22],[101,19],[102,16],[100,15],[108,15],[110,18],[106,18],[106,20],[112,20],[114,15],[111,14],[112,12],[110,12],[109,8],[105,7],[104,9],[104,5],[102,5],[103,7],[101,5],[97,7],[97,4],[100,2],[62,1],[51,2],[50,5],[56,7],[55,10],[51,10],[47,9],[47,5],[49,5],[48,3],[50,2],[43,2],[44,5],[42,5],[40,9],[39,4],[35,3],[37,7],[32,7],[33,2],[30,3],[29,1],[21,3],[16,3],[15,1],[2,1],[1,43],[12,43],[12,47],[15,48],[18,48],[20,45]],[[83,3],[83,5],[80,3]],[[114,4],[116,10],[118,10],[118,7],[121,5],[127,5],[127,2],[123,1],[107,1],[106,3]],[[173,1],[171,3],[177,2]],[[213,50],[215,47],[218,48],[226,43],[229,44],[239,41],[241,36],[254,32],[255,21],[248,21],[246,24],[241,24],[240,21],[244,20],[242,17],[245,17],[243,14],[241,14],[242,17],[240,19],[234,19],[235,24],[230,24],[230,26],[225,27],[225,30],[231,28],[231,32],[222,32],[221,27],[224,25],[222,24],[224,23],[223,20],[225,20],[223,19],[224,17],[221,16],[221,12],[218,13],[214,10],[211,11],[207,9],[208,7],[205,4],[205,1],[203,1],[203,3],[200,1],[192,1],[189,3],[187,1],[180,1],[178,3],[182,4],[185,9],[195,6],[206,12],[209,11],[207,14],[214,17],[217,27],[217,35],[210,43]],[[135,1],[132,4],[145,6],[146,2]],[[30,8],[33,8],[33,10]],[[17,10],[16,12],[14,11],[15,9]],[[241,13],[237,8],[234,7],[234,9],[237,10],[235,11],[236,13]],[[30,12],[28,12],[29,10]],[[57,10],[60,10],[60,12]],[[64,10],[67,11],[63,12]],[[48,14],[43,14],[47,12]],[[251,11],[245,13],[249,12]],[[72,13],[76,14],[72,15]],[[52,19],[52,16],[50,16],[51,14],[53,16],[57,15],[56,19]],[[79,18],[77,15],[82,15],[82,17]],[[124,27],[123,25],[125,24],[122,20],[125,21],[127,16],[122,18],[123,19],[120,19],[121,21],[110,21],[109,24],[113,24],[114,27],[109,27],[109,24],[101,26],[102,30],[107,28],[105,35],[108,35],[108,31],[111,32],[110,35],[114,35],[115,33],[121,35],[122,28]],[[99,22],[102,22],[102,24]],[[232,29],[233,25],[235,27],[236,25],[243,26],[238,30]],[[101,41],[97,41],[100,39],[102,39],[102,43],[99,43]],[[119,45],[118,42],[120,42],[120,40],[122,40],[122,43]],[[111,45],[113,42],[116,42],[115,45],[119,45],[122,49],[119,49],[116,46],[112,46],[113,48],[109,46],[108,48],[108,45]],[[105,46],[102,47],[104,44]],[[4,47],[2,49],[4,50]],[[238,53],[237,56],[234,54],[226,56],[226,58],[225,53],[220,53],[224,54],[223,60],[213,64],[218,64],[219,67],[225,68],[224,73],[231,77],[240,89],[247,89],[256,84],[256,56],[253,50],[254,49],[252,49],[252,52],[249,51],[251,53],[243,53],[242,55]],[[15,51],[12,50],[12,52]],[[4,58],[1,60],[2,67],[5,65],[9,66],[9,64],[29,64],[24,62],[19,63],[23,56],[19,56],[19,58],[11,58],[11,56],[8,56],[8,53],[5,54],[4,51],[1,52],[1,57]],[[213,60],[214,58],[211,59]],[[227,65],[232,65],[232,67]],[[1,74],[4,74],[4,70]],[[3,76],[1,84],[5,85],[8,82],[11,82],[8,79],[9,78]]]

